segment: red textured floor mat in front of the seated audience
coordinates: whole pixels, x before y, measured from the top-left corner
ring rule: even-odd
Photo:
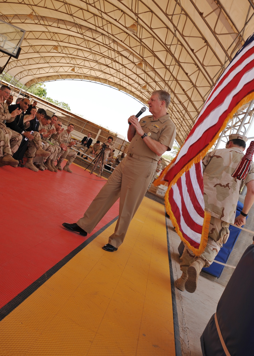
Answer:
[[[0,308],[118,215],[117,201],[87,237],[65,230],[62,223],[83,216],[106,183],[74,164],[71,169],[0,168]]]

